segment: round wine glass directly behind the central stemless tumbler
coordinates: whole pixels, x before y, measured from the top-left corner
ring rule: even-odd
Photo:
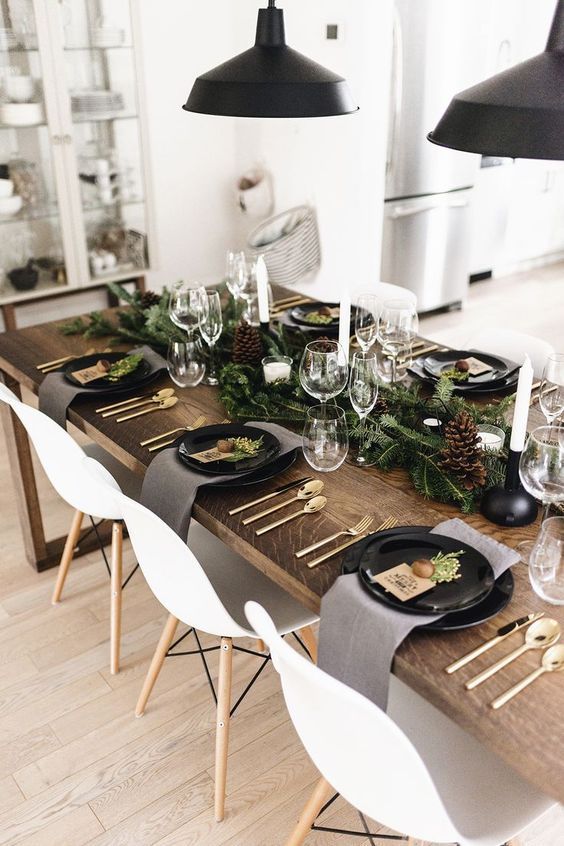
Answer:
[[[304,391],[322,404],[344,391],[348,363],[337,341],[312,341],[300,361],[300,384]]]

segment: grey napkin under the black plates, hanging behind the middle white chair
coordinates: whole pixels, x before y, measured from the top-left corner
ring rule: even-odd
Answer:
[[[289,432],[275,423],[249,423],[266,429],[280,441],[279,455],[285,455],[301,446],[300,435]],[[157,514],[171,529],[186,539],[192,516],[192,506],[201,485],[213,485],[232,479],[233,475],[208,476],[191,470],[178,458],[178,445],[159,453],[149,465],[143,488],[141,502],[150,511]],[[243,474],[242,474],[243,475]]]

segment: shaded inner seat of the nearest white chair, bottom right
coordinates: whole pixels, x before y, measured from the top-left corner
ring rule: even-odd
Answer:
[[[388,714],[425,761],[449,816],[473,846],[505,843],[555,804],[394,676]]]

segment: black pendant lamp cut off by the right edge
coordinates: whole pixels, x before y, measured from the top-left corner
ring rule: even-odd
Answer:
[[[564,0],[546,50],[457,94],[433,144],[522,159],[564,159]]]

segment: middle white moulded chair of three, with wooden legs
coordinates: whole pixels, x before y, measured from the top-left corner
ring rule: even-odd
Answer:
[[[85,464],[89,472],[98,472],[95,462],[85,459]],[[100,482],[104,486],[103,476]],[[187,545],[160,517],[140,503],[123,494],[114,493],[112,488],[107,489],[107,495],[114,498],[117,509],[123,515],[133,549],[149,587],[169,613],[143,685],[136,709],[137,716],[144,712],[179,622],[190,627],[187,634],[194,634],[198,644],[195,652],[202,658],[205,657],[204,651],[210,650],[202,650],[198,631],[220,638],[219,646],[215,647],[220,650],[216,698],[215,817],[221,821],[225,812],[230,717],[270,661],[269,655],[264,656],[259,652],[233,645],[234,638],[259,640],[259,636],[246,621],[245,601],[260,597],[260,601],[267,605],[276,619],[277,634],[303,632],[305,629],[305,635],[310,642],[314,642],[315,638],[307,627],[317,622],[318,618],[259,573],[249,562],[231,552],[203,527],[194,524],[194,521]],[[197,546],[200,547],[200,560],[193,551]],[[233,650],[257,655],[262,663],[232,707]],[[211,684],[205,662],[204,665]],[[211,686],[214,690],[213,685]]]

